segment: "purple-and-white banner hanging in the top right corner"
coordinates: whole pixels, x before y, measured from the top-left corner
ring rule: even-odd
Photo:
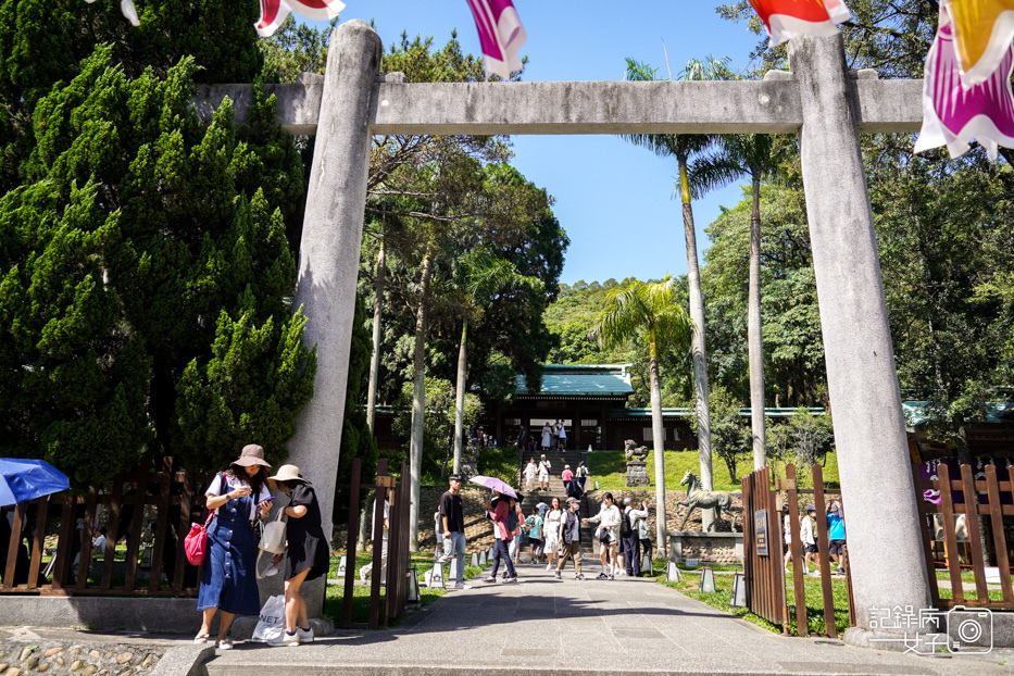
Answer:
[[[940,7],[940,24],[923,82],[923,129],[915,152],[947,146],[952,158],[968,151],[974,138],[996,161],[998,146],[1014,148],[1014,95],[1011,71],[1014,53],[1007,45],[997,70],[986,82],[965,88],[954,41],[954,25]]]

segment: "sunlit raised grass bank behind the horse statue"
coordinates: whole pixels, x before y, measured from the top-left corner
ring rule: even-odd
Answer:
[[[776,477],[785,476],[785,465],[779,462],[772,462],[773,472]],[[679,481],[683,480],[687,470],[700,476],[701,458],[697,451],[666,451],[665,452],[665,488],[667,490],[680,489]],[[627,465],[623,451],[594,451],[588,454],[588,471],[591,474],[591,480],[599,481],[599,488],[608,490],[622,490],[625,488]],[[714,472],[716,490],[735,490],[740,485],[733,484],[729,479],[728,467],[725,466],[718,458],[712,459],[712,471]],[[742,458],[736,465],[736,478],[742,478],[743,475],[753,472],[753,459]],[[654,451],[648,452],[648,476],[652,485],[655,480],[655,460]],[[811,480],[800,477],[801,487],[810,487]],[[592,484],[593,485],[593,484]],[[835,453],[827,454],[827,462],[824,466],[824,486],[825,488],[838,488],[838,456]],[[684,487],[685,488],[685,487]]]

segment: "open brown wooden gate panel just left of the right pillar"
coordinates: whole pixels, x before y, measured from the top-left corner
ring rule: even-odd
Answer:
[[[824,475],[819,465],[811,468],[813,488],[799,488],[796,466],[786,466],[786,478],[776,479],[774,486],[771,471],[764,467],[742,478],[743,490],[743,568],[747,583],[747,605],[751,612],[774,624],[780,624],[788,633],[790,613],[787,604],[786,575],[783,566],[783,516],[781,500],[778,491],[785,491],[785,504],[789,510],[789,528],[793,534],[789,550],[792,552],[792,591],[796,605],[796,626],[799,636],[810,636],[810,623],[806,613],[806,586],[802,541],[800,533],[800,496],[813,496],[816,510],[817,564],[821,569],[821,602],[823,605],[824,626],[827,636],[837,638],[835,621],[835,599],[830,571],[830,556],[826,497],[835,495],[840,500],[840,491],[824,487]],[[809,502],[809,501],[808,501]],[[844,505],[842,504],[842,512]],[[765,542],[766,540],[766,542]],[[765,553],[766,552],[766,553]],[[848,560],[848,553],[846,553]],[[849,618],[855,623],[852,606],[852,577],[846,566],[846,584],[849,591]]]

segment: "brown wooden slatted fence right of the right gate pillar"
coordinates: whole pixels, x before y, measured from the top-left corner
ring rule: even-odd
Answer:
[[[1005,470],[1001,470],[1006,474]],[[932,604],[940,610],[965,605],[992,610],[1014,610],[1014,590],[1011,585],[1011,561],[1007,550],[1003,517],[1014,516],[1014,484],[1000,480],[997,467],[986,465],[985,480],[976,480],[971,465],[961,465],[960,477],[951,477],[946,464],[937,465],[937,478],[923,479],[919,465],[913,465],[915,501],[919,511],[919,528]],[[939,504],[928,502],[924,491],[939,491]],[[1004,504],[1006,493],[1009,504]],[[964,515],[957,522],[957,516]],[[961,536],[959,537],[959,530]],[[951,598],[940,597],[937,583],[937,562],[934,542],[943,542],[943,565],[947,567]],[[996,567],[987,568],[990,549],[996,558]],[[966,551],[975,583],[975,597],[966,594],[961,575],[961,550]],[[992,573],[993,576],[988,574]],[[1000,585],[1001,599],[990,600],[988,583]],[[969,590],[971,591],[971,590]]]

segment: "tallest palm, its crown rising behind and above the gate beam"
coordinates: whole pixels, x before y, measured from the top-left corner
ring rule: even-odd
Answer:
[[[728,59],[706,57],[703,61],[690,60],[679,74],[684,80],[716,80],[733,77]],[[655,70],[634,59],[627,59],[625,79],[629,82],[653,82]],[[704,489],[714,488],[711,467],[711,411],[708,391],[708,341],[704,334],[704,298],[701,293],[701,272],[697,253],[697,233],[693,225],[690,178],[687,166],[692,155],[714,146],[714,135],[702,134],[635,134],[624,136],[635,146],[641,146],[655,154],[676,158],[679,166],[679,196],[683,200],[683,225],[687,240],[687,281],[690,287],[690,320],[693,322],[691,350],[693,353],[693,395],[697,408],[698,450],[701,459],[701,484]],[[704,515],[710,522],[711,510]]]

